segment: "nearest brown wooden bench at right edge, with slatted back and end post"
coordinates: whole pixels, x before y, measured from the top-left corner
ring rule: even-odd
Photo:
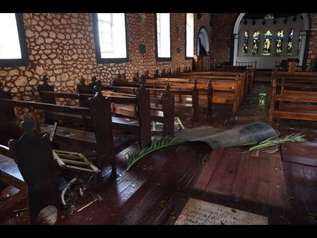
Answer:
[[[276,108],[278,101],[278,108]],[[286,103],[285,103],[286,102]],[[269,123],[274,118],[317,121],[317,92],[281,90],[276,94],[276,80],[271,83]]]

